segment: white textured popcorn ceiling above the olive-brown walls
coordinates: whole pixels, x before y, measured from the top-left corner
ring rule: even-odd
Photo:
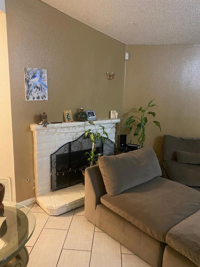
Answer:
[[[200,0],[42,0],[124,44],[200,44]]]

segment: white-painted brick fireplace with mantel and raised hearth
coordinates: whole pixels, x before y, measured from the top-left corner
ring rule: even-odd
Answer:
[[[109,139],[115,142],[115,126],[120,119],[94,121],[102,125]],[[84,186],[77,184],[51,192],[50,155],[64,144],[79,138],[86,130],[95,126],[86,122],[48,124],[47,128],[31,124],[34,138],[34,166],[36,201],[49,215],[60,215],[84,205]]]

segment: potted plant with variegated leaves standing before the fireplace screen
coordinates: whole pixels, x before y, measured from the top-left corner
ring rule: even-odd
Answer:
[[[95,130],[88,129],[85,131],[84,137],[87,138],[89,136],[90,140],[92,141],[92,150],[90,152],[85,152],[85,155],[88,155],[88,162],[90,163],[90,166],[93,166],[95,164],[98,164],[97,160],[98,157],[101,156],[100,153],[95,153],[97,150],[97,141],[101,140],[102,144],[105,141],[105,135],[108,138],[108,133],[105,131],[105,127],[102,125],[98,125],[96,128],[95,124],[93,121],[89,121],[90,124],[94,125]],[[101,132],[103,130],[103,135],[101,135]],[[85,177],[85,168],[82,167],[81,171],[83,173],[83,177]]]

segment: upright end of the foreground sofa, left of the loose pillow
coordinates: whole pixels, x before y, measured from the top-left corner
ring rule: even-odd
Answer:
[[[101,202],[101,196],[105,195],[106,189],[99,166],[95,165],[85,169],[85,218],[95,224],[95,212]]]

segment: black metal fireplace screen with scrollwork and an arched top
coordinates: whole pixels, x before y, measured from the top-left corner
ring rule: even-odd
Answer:
[[[88,155],[85,152],[92,150],[92,142],[84,138],[84,134],[78,139],[68,142],[51,154],[51,191],[66,188],[83,182],[81,168],[89,166]],[[97,142],[95,153],[101,155],[114,155],[115,143],[105,138]]]

